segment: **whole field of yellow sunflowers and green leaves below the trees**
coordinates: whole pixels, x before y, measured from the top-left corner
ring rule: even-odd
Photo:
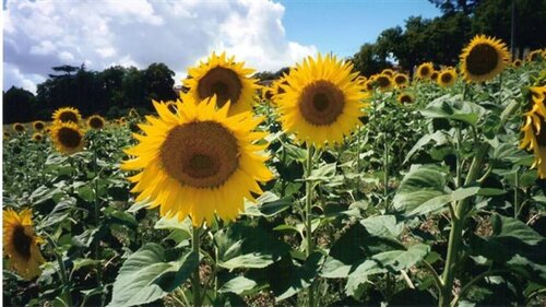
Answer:
[[[235,57],[155,113],[3,129],[4,306],[544,306],[546,51]]]

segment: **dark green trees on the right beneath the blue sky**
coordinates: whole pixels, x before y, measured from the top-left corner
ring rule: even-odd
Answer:
[[[510,47],[512,17],[514,56],[521,58],[525,49],[546,46],[546,0],[429,1],[440,9],[441,16],[411,16],[404,28],[384,29],[351,58],[355,68],[370,75],[394,62],[404,70],[426,61],[454,66],[461,49],[476,34],[495,36]]]

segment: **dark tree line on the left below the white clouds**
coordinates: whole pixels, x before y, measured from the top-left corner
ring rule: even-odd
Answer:
[[[146,69],[110,67],[103,71],[85,66],[60,66],[37,85],[36,95],[12,86],[3,92],[3,123],[49,120],[60,107],[76,107],[83,116],[117,118],[128,108],[152,109],[152,99],[176,99],[175,72],[164,63]]]

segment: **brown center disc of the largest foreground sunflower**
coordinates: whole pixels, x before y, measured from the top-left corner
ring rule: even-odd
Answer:
[[[194,188],[222,186],[239,165],[237,139],[215,121],[194,121],[173,128],[159,158],[167,174]]]

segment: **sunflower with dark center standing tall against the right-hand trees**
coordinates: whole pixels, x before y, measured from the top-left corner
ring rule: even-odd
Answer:
[[[508,64],[510,55],[500,39],[476,35],[461,54],[461,70],[466,82],[494,79]]]

